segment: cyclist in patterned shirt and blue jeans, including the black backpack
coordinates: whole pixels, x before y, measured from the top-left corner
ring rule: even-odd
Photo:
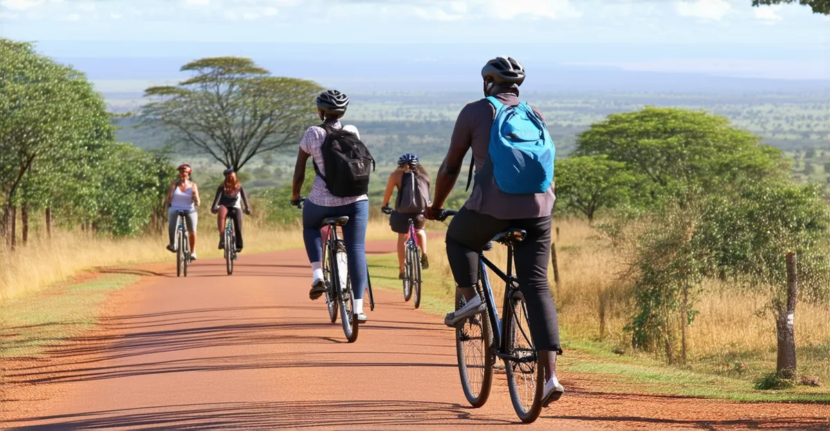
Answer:
[[[349,259],[349,278],[354,291],[353,310],[359,322],[366,322],[363,311],[364,289],[369,275],[366,267],[366,225],[369,222],[369,173],[374,159],[360,141],[358,129],[343,126],[340,119],[349,106],[349,97],[328,90],[317,97],[317,114],[323,121],[311,126],[300,141],[294,168],[291,203],[300,205],[300,189],[305,180],[305,162],[311,157],[317,173],[303,206],[303,240],[312,270],[309,298],[325,293],[320,228],[329,217],[348,216],[342,227]]]

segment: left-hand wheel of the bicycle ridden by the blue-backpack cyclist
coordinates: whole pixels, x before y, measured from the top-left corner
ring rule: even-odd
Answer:
[[[456,289],[456,310],[466,301]],[[493,382],[492,328],[486,312],[468,317],[456,327],[456,355],[461,388],[471,406],[479,408],[490,397]]]

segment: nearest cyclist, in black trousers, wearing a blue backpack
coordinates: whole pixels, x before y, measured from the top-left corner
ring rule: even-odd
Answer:
[[[530,335],[544,368],[543,404],[559,400],[564,388],[556,378],[562,353],[559,322],[548,283],[551,212],[554,201],[555,148],[538,109],[519,99],[525,69],[510,57],[496,57],[481,70],[484,99],[467,104],[452,132],[447,156],[438,172],[427,218],[442,218],[442,206],[472,149],[476,181],[471,196],[447,229],[447,259],[466,305],[447,314],[454,327],[486,310],[476,294],[478,253],[500,232],[525,230],[515,243],[515,268],[525,296]],[[469,182],[472,180],[472,166]]]

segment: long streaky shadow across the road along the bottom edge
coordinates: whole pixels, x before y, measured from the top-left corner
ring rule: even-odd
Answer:
[[[23,422],[13,430],[58,429],[300,429],[330,428],[388,429],[394,426],[511,424],[510,421],[471,415],[471,408],[460,404],[403,400],[236,402],[220,404],[184,404],[151,409],[123,409],[46,416]],[[476,417],[478,416],[478,417]]]

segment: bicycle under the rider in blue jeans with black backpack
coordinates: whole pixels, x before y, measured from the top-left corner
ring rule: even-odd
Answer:
[[[292,202],[297,208],[302,208],[305,199]],[[349,223],[349,217],[330,217],[323,220],[320,229],[328,228],[323,244],[323,279],[325,280],[325,304],[329,309],[331,322],[337,322],[338,311],[343,332],[349,342],[357,341],[359,322],[353,309],[353,288],[349,278],[349,260],[346,254],[346,243],[339,238],[337,228]],[[369,268],[367,268],[367,275]],[[369,304],[374,310],[374,295],[372,283],[369,281]]]

